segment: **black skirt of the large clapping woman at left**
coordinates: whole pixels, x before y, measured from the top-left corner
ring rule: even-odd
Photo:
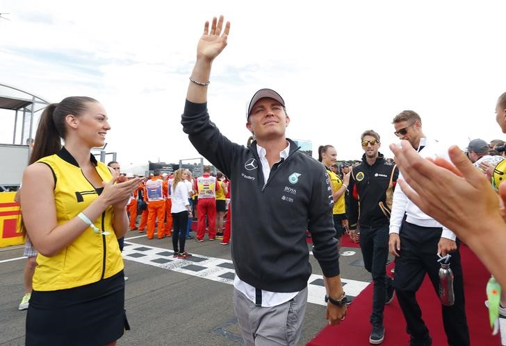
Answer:
[[[128,326],[123,270],[108,279],[58,291],[33,291],[26,314],[26,345],[101,345]]]

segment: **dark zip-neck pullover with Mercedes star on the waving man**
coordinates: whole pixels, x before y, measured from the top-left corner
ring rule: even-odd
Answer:
[[[256,142],[245,148],[229,141],[209,120],[206,103],[186,101],[181,124],[199,153],[230,178],[231,251],[241,280],[272,292],[304,289],[311,275],[306,230],[323,275],[339,274],[332,196],[322,164],[290,141],[290,154],[264,182]]]

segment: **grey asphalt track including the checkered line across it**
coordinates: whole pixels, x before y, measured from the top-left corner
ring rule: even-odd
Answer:
[[[193,232],[192,232],[193,234]],[[234,266],[229,245],[188,239],[193,258],[172,257],[172,239],[149,240],[137,231],[126,234],[123,252],[125,308],[131,326],[117,345],[243,345],[232,306]],[[311,244],[308,244],[311,251]],[[341,249],[341,277],[348,295],[370,282],[359,248]],[[24,295],[22,246],[0,249],[0,345],[24,345],[26,311],[17,306]],[[318,262],[310,256],[313,275],[299,345],[325,326],[325,288]],[[353,304],[349,306],[353,309]]]

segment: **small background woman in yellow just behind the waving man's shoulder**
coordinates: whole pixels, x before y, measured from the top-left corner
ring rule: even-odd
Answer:
[[[332,200],[334,200],[334,208],[332,209],[332,216],[334,216],[334,228],[336,229],[336,238],[341,239],[341,236],[348,228],[348,218],[346,218],[346,202],[345,192],[348,189],[350,182],[350,175],[345,175],[343,182],[339,176],[334,173],[330,167],[336,164],[336,149],[331,146],[320,146],[318,148],[318,161],[327,167],[327,173],[330,178],[330,188],[332,189]]]

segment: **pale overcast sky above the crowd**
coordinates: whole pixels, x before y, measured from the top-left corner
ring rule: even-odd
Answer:
[[[188,76],[204,22],[225,15],[211,119],[245,144],[257,89],[286,101],[292,139],[362,155],[361,132],[396,141],[391,120],[421,115],[427,137],[465,147],[506,139],[494,107],[505,83],[506,1],[26,1],[0,0],[0,83],[51,102],[97,98],[107,149],[130,164],[199,156],[182,132]],[[0,112],[0,142],[13,139]]]

